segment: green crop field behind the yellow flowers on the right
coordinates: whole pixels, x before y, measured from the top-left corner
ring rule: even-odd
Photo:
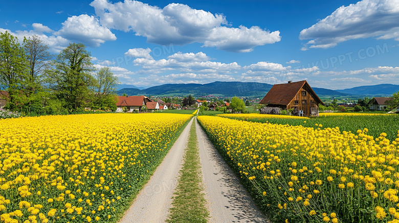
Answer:
[[[277,116],[277,115],[276,115]],[[252,122],[270,122],[275,124],[289,124],[291,126],[303,126],[318,128],[316,124],[321,124],[322,128],[339,127],[342,131],[351,131],[356,133],[357,130],[368,129],[368,135],[373,137],[380,136],[381,133],[387,134],[387,139],[395,140],[399,137],[399,115],[348,115],[348,116],[322,116],[317,118],[289,119],[280,118],[247,118],[247,117],[231,117]]]

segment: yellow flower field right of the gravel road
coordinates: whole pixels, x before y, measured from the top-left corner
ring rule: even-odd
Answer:
[[[399,222],[399,131],[198,121],[276,222]]]

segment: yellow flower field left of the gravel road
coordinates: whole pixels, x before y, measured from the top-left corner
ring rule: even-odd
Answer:
[[[191,117],[83,114],[0,120],[0,220],[114,219]]]

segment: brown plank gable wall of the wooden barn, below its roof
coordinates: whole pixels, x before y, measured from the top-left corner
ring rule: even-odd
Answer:
[[[302,92],[306,92],[306,95],[302,95]],[[303,111],[303,114],[306,116],[311,115],[311,108],[318,107],[317,101],[316,101],[316,95],[314,95],[310,89],[306,85],[302,87],[300,91],[295,95],[293,100],[289,105],[287,105],[287,109],[290,108],[298,108],[299,110]],[[306,104],[303,104],[303,101],[306,100]],[[298,104],[295,104],[295,101],[298,102]],[[314,103],[312,103],[312,101]]]

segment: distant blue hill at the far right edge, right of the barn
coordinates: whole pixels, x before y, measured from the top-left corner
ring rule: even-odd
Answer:
[[[353,87],[343,90],[336,90],[342,93],[347,94],[356,94],[356,95],[373,95],[373,96],[382,96],[382,95],[392,95],[393,93],[399,91],[399,85],[396,84],[378,84],[371,86],[360,86]]]

